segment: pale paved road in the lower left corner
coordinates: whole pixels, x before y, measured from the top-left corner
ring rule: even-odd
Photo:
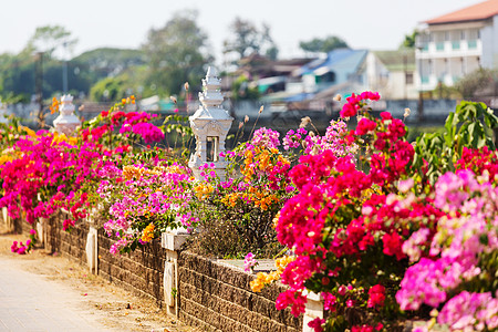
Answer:
[[[116,331],[98,315],[81,309],[82,294],[27,272],[14,259],[0,256],[0,331]]]

